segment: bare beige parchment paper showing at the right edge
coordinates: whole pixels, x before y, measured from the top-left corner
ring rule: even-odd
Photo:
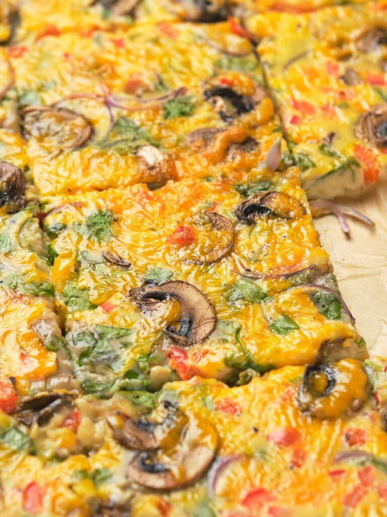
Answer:
[[[331,256],[342,295],[368,350],[387,358],[387,183],[359,200],[338,200],[372,219],[374,228],[350,217],[350,238],[333,216],[315,219],[322,246]]]

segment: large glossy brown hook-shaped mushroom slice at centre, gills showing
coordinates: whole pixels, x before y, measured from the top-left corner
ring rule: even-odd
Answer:
[[[216,325],[216,313],[207,298],[194,285],[180,280],[165,282],[152,287],[135,287],[129,291],[138,303],[152,303],[174,298],[180,302],[179,329],[172,325],[164,329],[171,339],[183,346],[193,345],[206,339]]]

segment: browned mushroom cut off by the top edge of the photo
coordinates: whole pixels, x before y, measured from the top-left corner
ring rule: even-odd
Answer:
[[[171,7],[184,21],[223,22],[230,14],[229,0],[170,0]]]

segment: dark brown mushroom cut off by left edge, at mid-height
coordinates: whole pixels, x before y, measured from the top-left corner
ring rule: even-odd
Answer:
[[[25,185],[26,180],[19,167],[0,161],[0,206],[6,205],[9,214],[25,205]]]

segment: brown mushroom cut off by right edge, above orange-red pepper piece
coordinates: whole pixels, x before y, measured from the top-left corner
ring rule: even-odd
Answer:
[[[376,104],[363,113],[355,127],[355,134],[377,147],[387,147],[387,103]]]

